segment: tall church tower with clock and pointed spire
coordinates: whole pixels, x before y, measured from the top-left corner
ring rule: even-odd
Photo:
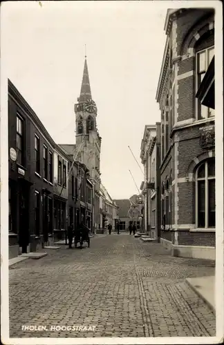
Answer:
[[[88,77],[88,66],[85,57],[84,72],[80,97],[75,104],[76,146],[80,146],[77,160],[85,164],[94,186],[94,227],[100,223],[100,150],[101,140],[97,130],[97,107],[92,99],[91,86]]]

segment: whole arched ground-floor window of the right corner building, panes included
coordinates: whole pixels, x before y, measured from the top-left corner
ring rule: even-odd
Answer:
[[[203,161],[196,170],[196,227],[216,226],[215,159]]]

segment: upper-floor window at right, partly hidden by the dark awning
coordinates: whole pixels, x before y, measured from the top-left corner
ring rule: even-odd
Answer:
[[[196,66],[197,66],[197,78],[196,78],[196,90],[200,87],[200,83],[203,81],[203,78],[205,77],[205,73],[207,71],[207,68],[209,66],[209,63],[212,61],[212,58],[214,57],[214,46],[211,48],[207,48],[205,50],[201,50],[200,52],[197,52],[196,55]],[[207,108],[206,106],[203,106],[200,104],[200,101],[196,100],[198,102],[198,119],[207,119],[208,117],[213,117],[214,109]]]

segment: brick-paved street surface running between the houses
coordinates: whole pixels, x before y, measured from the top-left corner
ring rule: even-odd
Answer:
[[[214,313],[185,282],[214,275],[214,262],[171,257],[128,234],[97,235],[82,250],[46,251],[10,267],[10,337],[215,335]],[[50,331],[73,325],[95,331]]]

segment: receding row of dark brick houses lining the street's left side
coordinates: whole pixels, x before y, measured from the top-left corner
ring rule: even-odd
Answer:
[[[10,80],[8,150],[10,258],[66,237],[69,223],[84,221],[91,229],[89,170],[55,144]]]

